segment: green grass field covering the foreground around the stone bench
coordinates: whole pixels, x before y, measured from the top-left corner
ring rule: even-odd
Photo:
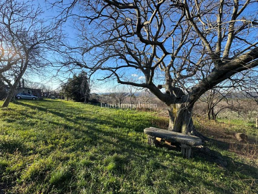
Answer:
[[[0,193],[258,192],[257,158],[230,151],[202,123],[197,128],[212,138],[208,153],[194,149],[183,159],[178,147],[148,146],[143,129],[167,121],[154,114],[59,100],[1,108]]]

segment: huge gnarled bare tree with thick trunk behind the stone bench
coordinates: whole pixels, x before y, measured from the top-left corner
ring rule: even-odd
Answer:
[[[149,89],[167,105],[169,130],[201,136],[191,119],[201,95],[224,81],[230,88],[240,75],[257,79],[256,1],[74,0],[53,5],[62,8],[62,21],[73,17],[77,24],[78,45],[69,47],[77,57],[67,57],[66,65],[109,71],[103,79]],[[126,81],[129,69],[145,80]]]

